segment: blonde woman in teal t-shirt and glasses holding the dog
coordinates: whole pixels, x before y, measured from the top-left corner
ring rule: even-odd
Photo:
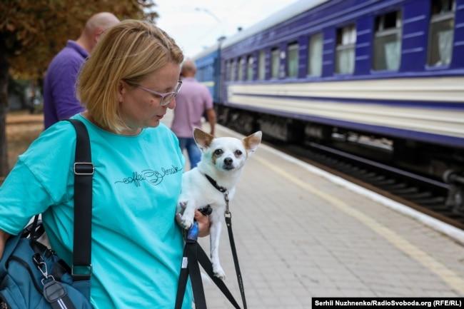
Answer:
[[[183,238],[174,217],[184,158],[160,123],[183,54],[164,31],[122,21],[101,37],[79,75],[95,173],[91,303],[96,309],[174,308]],[[71,263],[74,149],[71,123],[51,126],[0,188],[0,256],[9,235],[43,213],[52,248]],[[21,192],[21,194],[19,194]],[[208,230],[203,218],[202,233]],[[183,308],[191,308],[191,290]]]

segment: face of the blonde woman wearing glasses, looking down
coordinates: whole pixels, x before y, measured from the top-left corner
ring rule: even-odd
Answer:
[[[169,63],[143,78],[138,84],[158,93],[168,93],[176,88],[180,73],[181,67],[178,64]],[[123,81],[119,87],[118,97],[120,116],[129,128],[123,132],[126,135],[137,134],[141,128],[158,126],[167,108],[176,107],[175,99],[168,105],[161,106],[159,96]]]

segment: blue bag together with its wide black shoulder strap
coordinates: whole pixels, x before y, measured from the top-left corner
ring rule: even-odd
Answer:
[[[74,248],[71,268],[37,240],[44,227],[39,216],[22,233],[11,236],[0,259],[0,309],[91,309],[92,178],[89,133],[76,129],[74,163]],[[79,231],[79,233],[77,233]]]

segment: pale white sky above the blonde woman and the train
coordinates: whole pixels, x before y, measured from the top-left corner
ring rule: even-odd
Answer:
[[[216,44],[218,37],[236,34],[266,19],[296,0],[155,0],[157,25],[185,56],[193,57]]]

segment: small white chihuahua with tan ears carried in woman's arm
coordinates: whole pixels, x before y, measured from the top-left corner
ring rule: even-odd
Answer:
[[[218,248],[226,198],[228,201],[232,200],[242,168],[261,143],[261,136],[261,131],[258,131],[240,140],[231,137],[214,138],[199,128],[193,131],[193,138],[201,149],[202,156],[196,168],[183,173],[177,212],[181,213],[185,208],[181,225],[187,229],[192,225],[198,208],[211,206],[211,263],[214,275],[222,280],[226,278],[226,274],[219,263]]]

